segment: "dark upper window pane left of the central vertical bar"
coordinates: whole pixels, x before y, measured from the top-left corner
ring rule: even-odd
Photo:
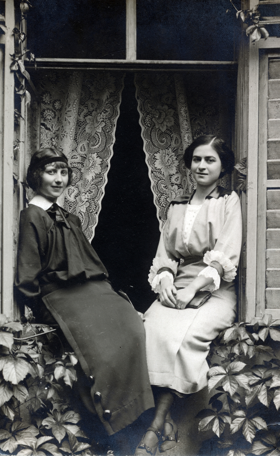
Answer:
[[[125,0],[34,0],[27,14],[35,57],[125,59]]]

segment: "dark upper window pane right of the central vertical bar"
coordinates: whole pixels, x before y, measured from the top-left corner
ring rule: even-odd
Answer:
[[[235,13],[229,0],[137,0],[137,59],[234,60]]]

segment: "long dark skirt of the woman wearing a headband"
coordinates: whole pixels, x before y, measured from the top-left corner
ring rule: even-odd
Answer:
[[[71,285],[42,299],[93,378],[91,394],[101,394],[95,409],[109,435],[154,407],[144,325],[129,302],[107,281]],[[111,412],[108,420],[105,409]]]

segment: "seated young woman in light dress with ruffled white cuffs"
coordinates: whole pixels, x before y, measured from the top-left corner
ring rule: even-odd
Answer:
[[[204,135],[185,150],[184,160],[197,185],[171,202],[150,269],[149,282],[159,300],[146,311],[144,326],[156,407],[135,456],[176,445],[177,425],[169,412],[174,395],[184,397],[207,385],[210,342],[236,315],[240,201],[234,191],[217,186],[233,171],[234,154],[223,140]],[[209,301],[188,308],[199,290],[212,292]]]

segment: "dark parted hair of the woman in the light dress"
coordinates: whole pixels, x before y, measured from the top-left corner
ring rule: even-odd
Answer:
[[[185,166],[190,169],[194,150],[200,145],[208,145],[211,143],[211,147],[217,152],[222,163],[224,171],[220,173],[219,177],[225,176],[225,174],[231,174],[235,164],[235,156],[232,150],[225,144],[225,141],[214,135],[202,135],[196,138],[185,150],[184,161]]]

